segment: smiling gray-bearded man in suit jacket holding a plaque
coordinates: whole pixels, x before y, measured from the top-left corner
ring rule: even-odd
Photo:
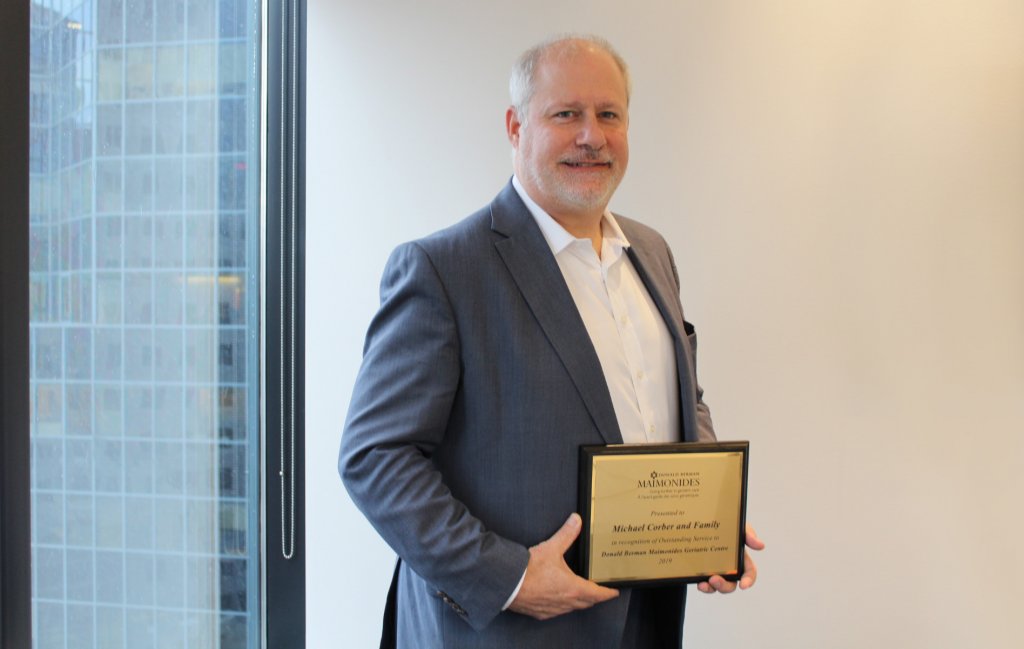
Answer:
[[[525,52],[512,181],[388,261],[339,463],[399,557],[382,644],[680,646],[685,588],[616,591],[564,559],[581,444],[714,439],[669,248],[607,211],[629,86],[600,39]]]

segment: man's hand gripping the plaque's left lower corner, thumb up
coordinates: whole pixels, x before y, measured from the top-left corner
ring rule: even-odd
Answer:
[[[565,563],[563,555],[582,526],[580,515],[572,514],[551,538],[529,549],[526,575],[509,610],[548,619],[618,597],[618,591],[584,579]]]

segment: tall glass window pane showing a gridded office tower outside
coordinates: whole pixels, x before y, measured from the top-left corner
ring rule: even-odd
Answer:
[[[258,20],[32,3],[38,649],[259,646]]]

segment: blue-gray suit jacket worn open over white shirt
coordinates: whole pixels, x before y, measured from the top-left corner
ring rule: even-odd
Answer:
[[[681,438],[714,439],[668,245],[616,219],[676,343]],[[511,183],[392,253],[364,354],[339,470],[400,558],[397,645],[618,647],[628,590],[547,621],[501,611],[527,548],[577,511],[579,446],[622,443],[587,330]]]

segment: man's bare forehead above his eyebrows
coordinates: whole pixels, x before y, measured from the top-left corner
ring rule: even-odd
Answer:
[[[625,107],[626,78],[611,55],[601,49],[561,48],[538,61],[534,99],[539,104],[586,102]]]

